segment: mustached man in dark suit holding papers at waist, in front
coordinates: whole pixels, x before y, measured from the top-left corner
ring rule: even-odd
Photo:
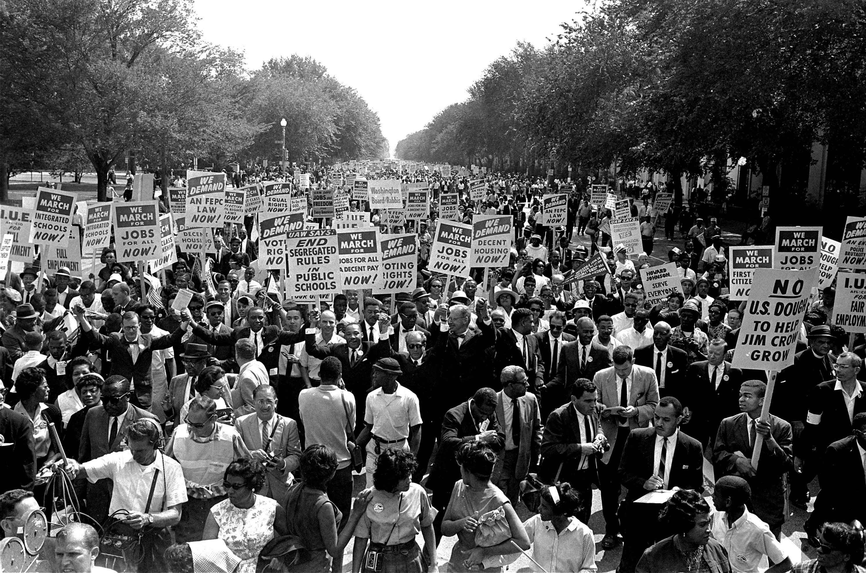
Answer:
[[[703,447],[701,442],[680,431],[682,404],[674,396],[658,401],[653,428],[638,428],[625,441],[619,462],[619,477],[628,488],[620,512],[625,524],[623,557],[617,571],[633,573],[643,550],[656,543],[662,504],[635,503],[658,489],[693,489],[703,492]]]

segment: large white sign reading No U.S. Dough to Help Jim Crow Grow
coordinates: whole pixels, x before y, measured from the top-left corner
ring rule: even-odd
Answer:
[[[800,325],[817,284],[818,267],[755,269],[734,368],[782,370],[793,364]]]

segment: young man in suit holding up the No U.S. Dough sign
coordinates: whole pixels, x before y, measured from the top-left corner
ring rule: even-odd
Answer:
[[[719,424],[713,446],[713,470],[716,479],[735,475],[749,482],[752,498],[749,510],[761,518],[779,538],[785,523],[785,482],[783,477],[793,467],[791,424],[770,415],[760,420],[764,407],[766,384],[746,380],[740,384],[740,414],[725,418]],[[754,442],[764,436],[758,469],[752,466]]]

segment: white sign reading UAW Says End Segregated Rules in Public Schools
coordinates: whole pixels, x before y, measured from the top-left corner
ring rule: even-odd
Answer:
[[[337,231],[308,229],[289,231],[286,241],[287,295],[319,296],[340,292]]]

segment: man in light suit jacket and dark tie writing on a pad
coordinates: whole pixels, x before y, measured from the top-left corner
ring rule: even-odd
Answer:
[[[625,441],[630,432],[650,425],[658,403],[658,383],[653,370],[634,364],[634,352],[629,346],[617,346],[613,366],[596,372],[592,383],[598,388],[601,428],[611,445],[598,465],[605,523],[602,547],[611,549],[619,543],[617,536],[622,531],[617,517],[622,483],[618,469]]]

